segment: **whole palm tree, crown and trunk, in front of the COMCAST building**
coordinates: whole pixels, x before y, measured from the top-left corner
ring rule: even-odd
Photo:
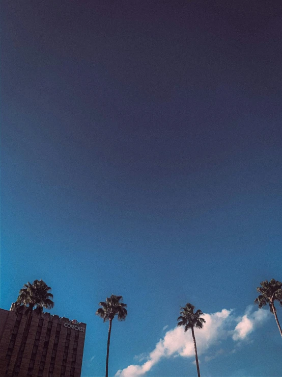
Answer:
[[[43,313],[43,308],[52,309],[54,306],[52,293],[49,291],[51,290],[50,287],[47,286],[43,280],[35,280],[33,284],[28,282],[24,284],[23,288],[19,291],[19,296],[15,302],[14,309],[16,314],[24,312],[27,316],[24,330],[23,330],[23,337],[21,340],[21,345],[19,347],[20,350],[24,350],[25,343],[27,336],[29,335],[30,326],[32,322],[33,313],[40,315]],[[14,369],[16,365],[20,365],[21,358],[20,355],[17,355],[17,362],[15,363]]]

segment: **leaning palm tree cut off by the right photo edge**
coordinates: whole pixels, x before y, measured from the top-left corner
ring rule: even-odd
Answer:
[[[274,301],[279,301],[280,306],[282,306],[282,283],[278,280],[271,279],[270,282],[265,280],[260,283],[261,287],[257,288],[260,295],[255,299],[255,304],[259,305],[259,309],[262,309],[265,305],[269,305],[269,309],[272,314],[274,314],[280,335],[282,337],[282,330],[280,323],[277,318],[276,308],[274,306]]]

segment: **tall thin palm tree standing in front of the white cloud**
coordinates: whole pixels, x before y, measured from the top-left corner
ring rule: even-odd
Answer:
[[[195,358],[196,358],[196,366],[198,371],[198,377],[200,376],[200,368],[199,368],[199,361],[198,361],[198,353],[197,353],[197,347],[196,347],[196,339],[194,334],[194,327],[197,329],[203,328],[203,323],[205,323],[205,319],[201,318],[201,315],[203,315],[203,312],[198,309],[194,313],[195,307],[189,303],[185,305],[185,307],[181,307],[180,310],[180,317],[177,318],[179,321],[177,323],[178,326],[184,326],[184,332],[186,332],[188,329],[191,329],[192,331],[192,337],[194,342],[194,349],[195,349]]]

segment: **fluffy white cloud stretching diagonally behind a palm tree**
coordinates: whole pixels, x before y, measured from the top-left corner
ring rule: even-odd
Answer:
[[[234,341],[245,339],[248,334],[257,328],[268,316],[266,310],[259,310],[254,313],[247,308],[245,314],[235,318],[232,310],[222,309],[221,312],[204,314],[206,323],[203,329],[195,329],[198,355],[204,354],[212,345],[217,344],[222,339],[232,336]],[[237,322],[235,329],[234,322]],[[222,354],[219,350],[216,356]],[[169,357],[194,357],[194,345],[191,332],[184,333],[183,328],[176,327],[168,330],[164,337],[159,340],[154,350],[148,355],[142,365],[129,365],[125,369],[120,369],[116,377],[138,377],[145,375],[160,359]],[[215,356],[215,357],[216,357]],[[214,357],[206,356],[205,361]]]

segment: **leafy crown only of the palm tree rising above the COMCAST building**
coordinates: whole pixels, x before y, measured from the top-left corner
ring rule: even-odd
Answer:
[[[32,311],[41,314],[43,308],[52,309],[54,303],[50,290],[51,288],[43,280],[35,280],[33,284],[30,282],[24,284],[16,300],[16,312],[24,310],[25,315],[29,315]]]

